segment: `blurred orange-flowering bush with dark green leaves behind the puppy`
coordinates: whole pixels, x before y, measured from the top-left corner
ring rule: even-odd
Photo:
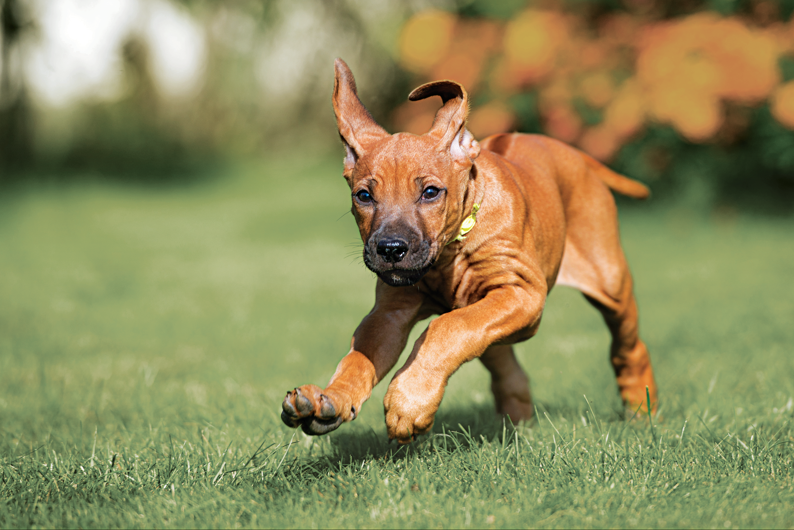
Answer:
[[[549,134],[692,206],[788,211],[794,2],[483,2],[414,14],[415,82],[472,92],[476,137]],[[422,37],[427,36],[427,37]],[[427,130],[436,102],[395,128]]]

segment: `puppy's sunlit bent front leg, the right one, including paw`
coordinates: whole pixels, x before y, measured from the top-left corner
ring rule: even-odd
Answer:
[[[544,301],[545,288],[538,292],[508,285],[430,323],[384,397],[389,438],[410,443],[429,431],[449,377],[492,343],[525,328],[534,333]]]

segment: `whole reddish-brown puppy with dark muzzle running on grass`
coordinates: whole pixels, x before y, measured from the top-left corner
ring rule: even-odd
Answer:
[[[427,83],[409,96],[441,96],[444,106],[428,133],[390,135],[361,104],[347,64],[337,59],[335,67],[344,176],[364,263],[380,279],[375,307],[326,389],[288,392],[284,423],[318,435],[354,420],[411,328],[430,315],[440,316],[384,398],[389,438],[410,443],[428,431],[449,377],[475,358],[491,372],[496,412],[515,423],[529,419],[529,381],[511,344],[538,330],[555,283],[579,289],[603,314],[623,402],[637,408],[647,386],[655,404],[609,191],[645,198],[647,188],[548,137],[497,134],[478,144],[465,128],[466,91],[453,81]],[[461,238],[472,213],[476,223]]]

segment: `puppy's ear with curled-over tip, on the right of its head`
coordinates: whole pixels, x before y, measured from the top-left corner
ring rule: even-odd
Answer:
[[[453,160],[463,165],[471,165],[480,155],[480,144],[466,129],[468,116],[466,89],[461,83],[454,81],[434,81],[415,88],[408,95],[408,99],[418,101],[433,95],[441,96],[444,106],[438,109],[433,126],[427,134],[437,137],[440,149],[448,151]]]

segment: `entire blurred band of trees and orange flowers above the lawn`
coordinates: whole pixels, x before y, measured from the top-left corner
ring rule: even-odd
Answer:
[[[549,134],[698,207],[789,211],[794,0],[5,0],[2,180],[187,179],[328,149],[334,56],[392,131],[472,94],[476,137]]]

